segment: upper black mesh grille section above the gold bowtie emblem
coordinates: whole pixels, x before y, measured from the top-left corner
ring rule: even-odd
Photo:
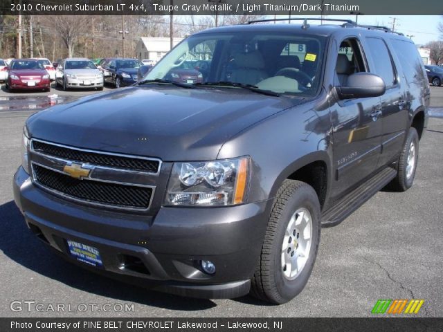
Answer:
[[[63,158],[77,163],[90,163],[96,166],[113,167],[156,174],[159,172],[159,160],[100,154],[99,152],[84,151],[60,147],[39,140],[33,140],[33,149],[42,154]]]

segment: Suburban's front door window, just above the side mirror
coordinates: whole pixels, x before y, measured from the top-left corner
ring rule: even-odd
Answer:
[[[346,86],[347,77],[354,73],[366,72],[367,68],[359,41],[356,38],[343,40],[338,49],[334,85]]]

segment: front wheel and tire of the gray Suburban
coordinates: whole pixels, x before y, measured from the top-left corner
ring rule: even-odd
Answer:
[[[251,280],[251,295],[266,302],[283,304],[305,288],[320,242],[320,214],[317,194],[310,185],[295,180],[283,182],[273,203],[262,252]],[[309,221],[296,225],[298,220],[306,221],[307,217],[311,219],[310,246],[304,243],[306,239],[302,236],[302,225],[309,225]],[[296,221],[291,223],[294,219]],[[293,232],[294,227],[299,229]],[[306,232],[309,233],[307,226]],[[291,274],[286,262],[302,253],[303,247],[309,247],[305,255],[307,259],[300,264],[299,271]]]

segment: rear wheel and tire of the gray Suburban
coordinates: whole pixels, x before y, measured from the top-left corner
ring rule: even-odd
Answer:
[[[401,149],[398,161],[397,176],[390,183],[390,189],[396,192],[406,192],[412,187],[418,163],[419,140],[415,128],[410,127],[408,137]]]

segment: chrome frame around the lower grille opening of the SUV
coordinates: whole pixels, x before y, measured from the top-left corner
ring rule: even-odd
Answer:
[[[37,181],[37,178],[35,177],[34,165],[38,165],[40,167],[44,167],[44,168],[49,169],[49,170],[51,170],[53,172],[64,174],[66,176],[69,176],[69,174],[66,174],[65,172],[61,172],[58,169],[53,169],[53,168],[48,167],[46,165],[42,165],[40,163],[35,163],[35,161],[32,161],[32,160],[30,162],[31,176],[32,176],[32,179],[33,179],[33,183],[35,183],[35,185],[37,185],[38,187],[43,188],[44,190],[47,190],[48,192],[52,192],[53,194],[56,194],[57,196],[62,196],[62,198],[70,199],[72,201],[76,201],[76,202],[80,202],[80,203],[86,203],[86,204],[89,204],[89,205],[96,205],[96,206],[100,206],[100,207],[103,207],[103,208],[113,208],[113,209],[116,209],[116,210],[127,210],[127,211],[142,212],[142,211],[147,211],[147,210],[150,209],[151,204],[152,204],[152,200],[154,199],[154,194],[155,194],[155,190],[156,190],[155,186],[152,186],[152,185],[136,185],[134,183],[122,183],[122,182],[116,182],[116,181],[102,181],[102,180],[96,180],[96,179],[89,178],[89,177],[87,177],[87,180],[97,181],[97,182],[104,182],[104,183],[114,183],[114,184],[117,184],[117,185],[127,185],[127,186],[130,186],[130,187],[147,187],[147,188],[150,188],[152,190],[152,193],[151,193],[150,201],[148,202],[147,208],[127,208],[127,207],[120,206],[120,205],[110,205],[110,204],[105,204],[105,203],[96,203],[96,202],[93,202],[93,201],[87,201],[87,200],[84,200],[84,199],[78,199],[78,198],[75,198],[73,196],[70,196],[69,194],[66,194],[65,192],[59,192],[58,190],[54,190],[54,189],[52,189],[50,187],[46,187],[46,185],[42,185],[42,183],[39,183],[39,181]]]

